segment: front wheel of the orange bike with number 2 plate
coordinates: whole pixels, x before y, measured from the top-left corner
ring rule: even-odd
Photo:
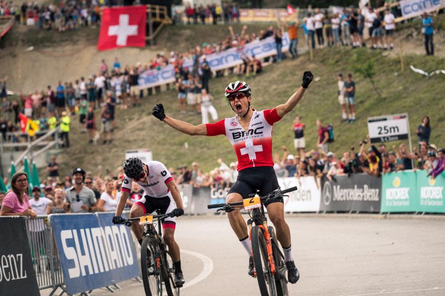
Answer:
[[[257,225],[252,227],[251,242],[255,271],[257,272],[257,280],[261,296],[275,296],[275,281],[268,262],[266,239],[262,229]]]

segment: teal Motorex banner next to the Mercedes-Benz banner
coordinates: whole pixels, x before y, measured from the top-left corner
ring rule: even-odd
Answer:
[[[411,170],[383,175],[380,211],[382,213],[418,212],[416,182],[416,173]]]

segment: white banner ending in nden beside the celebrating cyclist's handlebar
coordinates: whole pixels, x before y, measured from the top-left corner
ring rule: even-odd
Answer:
[[[314,177],[278,178],[281,190],[297,186],[298,190],[284,197],[284,212],[318,212],[320,208],[320,181]]]

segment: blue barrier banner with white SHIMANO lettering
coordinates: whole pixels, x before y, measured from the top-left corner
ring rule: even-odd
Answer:
[[[68,294],[115,284],[139,275],[129,227],[113,214],[50,215]]]

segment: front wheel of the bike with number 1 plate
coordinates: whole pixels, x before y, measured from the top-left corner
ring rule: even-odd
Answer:
[[[162,279],[158,242],[145,236],[140,247],[140,270],[146,296],[162,296]]]

